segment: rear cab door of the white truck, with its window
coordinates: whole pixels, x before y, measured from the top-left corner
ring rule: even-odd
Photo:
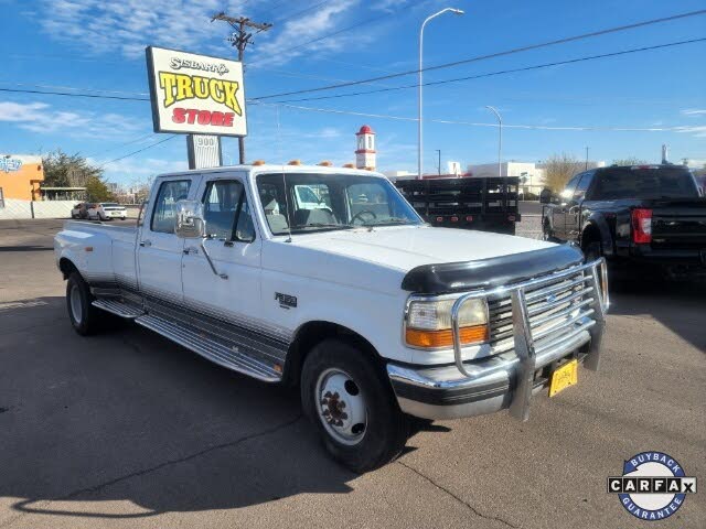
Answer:
[[[195,194],[199,175],[164,179],[150,202],[137,238],[139,289],[151,312],[181,305],[184,239],[174,235],[176,203]]]

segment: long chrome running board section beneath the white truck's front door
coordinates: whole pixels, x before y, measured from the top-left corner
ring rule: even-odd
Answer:
[[[228,345],[224,343],[212,339],[203,332],[191,330],[184,325],[175,325],[151,314],[137,317],[135,323],[150,331],[154,331],[165,338],[227,369],[266,382],[279,382],[282,378],[281,373],[275,369],[275,364],[265,364],[257,358],[240,353],[236,344],[228,347]]]

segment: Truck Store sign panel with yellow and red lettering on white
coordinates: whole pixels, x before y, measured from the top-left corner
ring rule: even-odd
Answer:
[[[238,61],[149,46],[154,132],[247,136]]]

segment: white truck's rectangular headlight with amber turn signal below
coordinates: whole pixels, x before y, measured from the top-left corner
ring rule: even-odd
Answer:
[[[407,345],[430,349],[453,347],[451,307],[456,300],[411,300],[405,328]],[[470,299],[463,303],[459,311],[459,334],[462,345],[488,342],[485,300]]]

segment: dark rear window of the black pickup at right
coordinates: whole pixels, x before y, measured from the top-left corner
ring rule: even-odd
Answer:
[[[592,199],[692,198],[698,196],[692,174],[683,168],[616,168],[602,172]]]

